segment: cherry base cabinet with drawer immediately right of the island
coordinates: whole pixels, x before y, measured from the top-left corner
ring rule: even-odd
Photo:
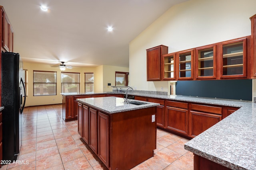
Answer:
[[[158,127],[165,128],[165,102],[164,100],[148,98],[148,102],[159,103],[159,106],[156,106],[156,125]]]

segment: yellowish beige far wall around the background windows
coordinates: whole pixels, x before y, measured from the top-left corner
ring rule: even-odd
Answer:
[[[105,68],[105,71],[104,71]],[[52,67],[48,64],[37,63],[23,63],[23,69],[27,70],[28,89],[26,106],[38,106],[47,104],[62,103],[61,93],[61,70],[58,67]],[[56,71],[57,72],[57,95],[54,96],[33,96],[33,71]],[[112,91],[112,88],[104,89],[105,82],[115,83],[115,71],[128,71],[129,68],[116,66],[97,66],[97,67],[73,67],[72,70],[66,69],[65,72],[79,72],[80,73],[80,93],[84,93],[84,72],[94,73],[94,92]],[[106,73],[106,74],[105,74]],[[114,81],[114,82],[113,82]],[[107,85],[107,84],[106,84]]]

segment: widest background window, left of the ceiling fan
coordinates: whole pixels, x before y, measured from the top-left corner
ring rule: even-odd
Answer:
[[[56,95],[56,71],[34,71],[34,96]]]

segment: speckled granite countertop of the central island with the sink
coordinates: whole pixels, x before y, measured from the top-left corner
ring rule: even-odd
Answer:
[[[86,104],[87,106],[94,107],[96,109],[99,109],[109,114],[136,110],[136,109],[144,109],[144,108],[154,107],[159,105],[157,103],[152,103],[152,102],[143,102],[146,104],[142,104],[142,105],[124,104],[124,98],[118,98],[118,97],[81,98],[77,100],[82,104]],[[138,101],[138,100],[130,100],[130,101]],[[142,102],[142,101],[139,101],[139,102]]]

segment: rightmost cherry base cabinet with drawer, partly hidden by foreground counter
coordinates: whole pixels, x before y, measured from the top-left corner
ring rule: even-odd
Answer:
[[[196,137],[203,131],[222,120],[222,107],[191,104],[190,137]]]

